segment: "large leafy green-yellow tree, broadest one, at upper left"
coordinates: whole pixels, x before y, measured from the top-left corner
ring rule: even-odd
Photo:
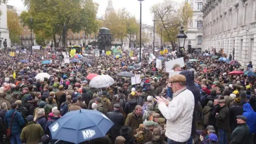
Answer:
[[[98,29],[96,20],[98,4],[93,3],[92,0],[23,0],[23,2],[28,8],[28,12],[22,12],[20,17],[23,25],[30,27],[29,18],[32,17],[34,33],[38,34],[43,30],[46,37],[53,37],[55,47],[58,47],[64,34],[64,24],[67,28],[66,35],[68,29],[74,33],[85,30],[88,34]]]

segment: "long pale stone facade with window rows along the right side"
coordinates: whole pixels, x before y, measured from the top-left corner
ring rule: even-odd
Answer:
[[[246,66],[256,64],[256,1],[204,0],[203,50],[232,54]]]

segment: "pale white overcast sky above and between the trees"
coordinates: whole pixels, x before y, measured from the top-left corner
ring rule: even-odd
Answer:
[[[99,4],[98,17],[101,17],[105,14],[106,7],[108,5],[108,0],[93,0]],[[125,7],[127,11],[131,14],[135,15],[135,17],[140,19],[140,2],[137,0],[112,0],[113,7],[117,11],[118,9],[122,9]],[[153,17],[150,13],[150,7],[156,3],[163,2],[164,0],[145,0],[142,2],[142,23],[147,25],[153,25]],[[175,2],[182,2],[183,0],[173,0]],[[22,0],[9,0],[9,5],[17,7],[18,13],[26,10],[24,7]]]

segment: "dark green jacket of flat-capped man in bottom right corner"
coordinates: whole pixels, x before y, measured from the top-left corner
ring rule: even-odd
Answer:
[[[250,130],[247,124],[240,124],[231,134],[230,144],[243,144],[249,143],[250,141]]]

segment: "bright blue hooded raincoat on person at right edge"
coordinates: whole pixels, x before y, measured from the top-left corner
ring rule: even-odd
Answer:
[[[243,116],[247,118],[246,124],[249,127],[250,134],[256,134],[256,112],[253,111],[250,103],[245,103],[243,107]]]

